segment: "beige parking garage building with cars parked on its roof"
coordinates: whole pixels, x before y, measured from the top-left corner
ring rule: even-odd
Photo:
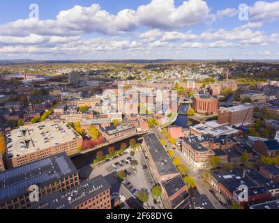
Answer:
[[[78,153],[82,137],[68,123],[48,121],[24,125],[7,132],[6,164],[9,168],[67,152]]]

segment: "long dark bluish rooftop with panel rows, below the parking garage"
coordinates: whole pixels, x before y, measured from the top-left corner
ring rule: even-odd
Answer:
[[[3,171],[0,173],[0,203],[27,194],[31,185],[44,187],[77,172],[66,153]]]

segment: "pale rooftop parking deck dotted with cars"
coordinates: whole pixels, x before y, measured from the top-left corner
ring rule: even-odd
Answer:
[[[81,138],[68,123],[49,121],[24,125],[6,132],[6,159],[27,155]]]

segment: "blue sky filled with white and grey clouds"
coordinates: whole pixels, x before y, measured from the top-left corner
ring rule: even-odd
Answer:
[[[278,27],[279,1],[0,1],[0,59],[279,59]]]

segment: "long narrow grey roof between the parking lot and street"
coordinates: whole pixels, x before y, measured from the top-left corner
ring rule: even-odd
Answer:
[[[149,146],[149,152],[151,153],[152,160],[155,162],[160,176],[178,174],[179,171],[174,166],[174,163],[170,159],[163,145],[160,143],[160,140],[156,134],[146,134],[143,138],[146,144]]]

